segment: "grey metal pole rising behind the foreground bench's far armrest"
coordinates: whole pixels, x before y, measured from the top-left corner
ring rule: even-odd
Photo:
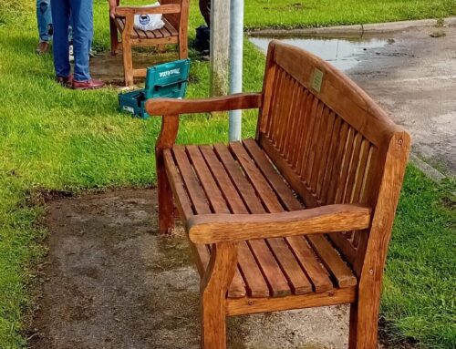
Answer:
[[[244,0],[230,6],[230,94],[243,92]],[[229,139],[241,140],[242,110],[230,111]]]

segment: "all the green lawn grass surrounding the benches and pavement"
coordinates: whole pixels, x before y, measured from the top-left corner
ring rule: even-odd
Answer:
[[[448,1],[432,1],[432,5],[398,0],[331,2],[336,5],[312,1],[306,2],[312,7],[308,11],[285,8],[294,3],[247,0],[247,26],[329,25],[455,14],[454,3]],[[345,10],[337,4],[344,4]],[[381,5],[382,11],[378,11]],[[255,15],[258,6],[275,10]],[[1,348],[26,345],[25,314],[32,308],[29,289],[36,279],[36,262],[46,252],[42,242],[47,231],[39,224],[45,208],[36,200],[36,192],[154,183],[153,146],[160,128],[158,119],[143,121],[119,115],[115,89],[77,92],[57,86],[50,56],[34,54],[37,35],[33,8],[32,0],[0,0]],[[23,15],[18,15],[20,11]],[[95,18],[95,46],[107,48],[105,0],[95,0]],[[202,18],[192,0],[191,28],[200,24]],[[193,36],[194,32],[190,33]],[[192,81],[198,82],[191,84],[188,97],[202,97],[208,91],[208,64],[191,55]],[[260,89],[263,67],[264,56],[245,43],[245,91]],[[254,127],[254,113],[245,113],[244,136],[252,136]],[[179,142],[227,138],[223,118],[182,118],[180,129]],[[454,183],[450,186],[454,190]],[[456,346],[452,297],[455,216],[454,206],[452,210],[447,207],[451,202],[445,199],[448,190],[409,168],[381,307],[391,341],[412,338],[422,347]]]

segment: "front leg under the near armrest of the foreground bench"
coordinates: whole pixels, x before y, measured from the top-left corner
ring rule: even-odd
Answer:
[[[226,348],[226,292],[237,265],[237,244],[212,246],[211,261],[202,278],[202,349]]]

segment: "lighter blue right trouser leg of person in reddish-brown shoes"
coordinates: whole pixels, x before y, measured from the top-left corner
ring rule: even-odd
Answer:
[[[76,81],[91,79],[88,67],[88,51],[93,36],[93,0],[69,0],[73,19],[73,52]]]

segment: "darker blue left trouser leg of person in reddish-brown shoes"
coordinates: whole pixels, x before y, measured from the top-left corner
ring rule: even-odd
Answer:
[[[54,26],[54,67],[57,77],[69,77],[68,25],[69,0],[52,0],[52,22]]]

